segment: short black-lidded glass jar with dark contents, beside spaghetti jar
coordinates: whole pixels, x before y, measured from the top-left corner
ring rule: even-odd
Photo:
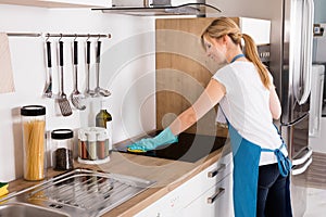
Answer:
[[[74,132],[71,129],[55,129],[51,139],[55,151],[53,152],[54,170],[68,170],[74,168]]]

